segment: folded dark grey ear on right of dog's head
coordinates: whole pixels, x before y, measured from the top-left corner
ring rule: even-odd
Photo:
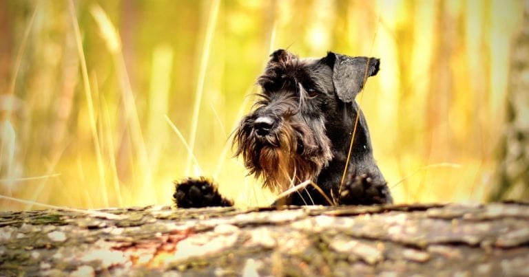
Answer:
[[[375,76],[380,68],[378,58],[351,57],[333,52],[328,52],[322,62],[333,69],[334,89],[343,102],[353,101],[367,77]]]

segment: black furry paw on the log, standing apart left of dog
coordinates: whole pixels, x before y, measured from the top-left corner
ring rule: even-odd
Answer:
[[[216,186],[204,177],[187,178],[178,183],[175,182],[175,185],[173,199],[178,208],[234,206],[233,201],[222,197]]]

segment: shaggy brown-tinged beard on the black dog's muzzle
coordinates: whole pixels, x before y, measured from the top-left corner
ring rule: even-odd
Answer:
[[[273,192],[315,181],[332,159],[329,138],[320,133],[316,139],[307,125],[283,122],[264,137],[254,132],[251,124],[243,121],[234,137],[236,155],[242,155],[249,174],[262,177],[263,187]]]

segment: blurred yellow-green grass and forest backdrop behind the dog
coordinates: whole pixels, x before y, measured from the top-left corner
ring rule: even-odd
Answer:
[[[169,204],[172,180],[206,175],[239,206],[266,205],[229,136],[288,47],[382,59],[362,109],[397,202],[484,201],[522,4],[0,1],[0,195]]]

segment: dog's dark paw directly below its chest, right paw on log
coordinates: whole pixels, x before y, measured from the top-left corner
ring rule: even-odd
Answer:
[[[350,175],[338,192],[340,205],[392,203],[386,181],[375,181],[367,174]]]

